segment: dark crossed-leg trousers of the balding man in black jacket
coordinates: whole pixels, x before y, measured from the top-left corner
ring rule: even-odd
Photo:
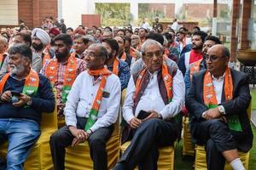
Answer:
[[[223,170],[225,158],[222,155],[222,152],[237,148],[236,140],[234,139],[230,128],[225,122],[218,119],[198,122],[195,126],[195,133],[192,135],[195,139],[199,139],[205,144],[205,150],[207,152],[207,169]]]

